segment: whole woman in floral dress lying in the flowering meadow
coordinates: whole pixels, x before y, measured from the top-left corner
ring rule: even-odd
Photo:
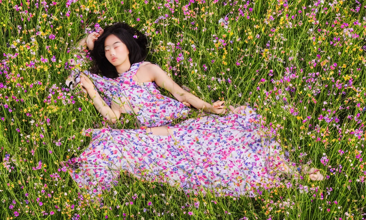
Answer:
[[[294,168],[280,155],[280,144],[275,138],[263,136],[260,117],[248,106],[230,106],[232,112],[222,117],[207,115],[169,126],[188,109],[181,102],[161,96],[153,81],[179,101],[198,109],[222,113],[223,102],[203,102],[176,85],[158,66],[142,65],[145,62],[135,59],[136,54],[130,52],[139,51],[133,36],[138,39],[142,35],[132,35],[126,31],[128,26],[122,26],[119,23],[105,28],[101,35],[88,36],[88,47],[93,49],[96,65],[104,77],[84,71],[93,82],[84,75],[81,82],[93,97],[94,105],[111,123],[124,111],[133,111],[142,125],[150,128],[89,129],[89,147],[80,157],[67,162],[79,187],[85,187],[92,195],[101,194],[118,181],[121,171],[126,171],[138,178],[165,181],[187,192],[211,190],[218,195],[254,196],[259,187],[279,186],[283,174],[294,174]],[[308,172],[307,168],[303,171]],[[309,177],[324,178],[314,168]]]

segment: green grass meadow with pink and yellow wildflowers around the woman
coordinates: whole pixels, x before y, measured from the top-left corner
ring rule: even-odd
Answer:
[[[0,219],[366,218],[365,1],[55,1],[0,0]],[[105,121],[80,87],[65,88],[67,62],[116,21],[145,33],[146,60],[193,94],[249,102],[291,161],[325,180],[221,198],[123,174],[104,201],[82,194],[59,161]]]

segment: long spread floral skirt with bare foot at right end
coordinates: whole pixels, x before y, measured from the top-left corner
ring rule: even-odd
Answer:
[[[248,106],[230,107],[223,117],[192,118],[175,126],[146,129],[89,129],[91,143],[67,163],[79,188],[100,197],[118,182],[120,172],[147,181],[169,183],[186,192],[217,196],[247,195],[283,184],[296,174],[275,138],[261,131],[260,117]],[[303,169],[312,180],[319,170]]]

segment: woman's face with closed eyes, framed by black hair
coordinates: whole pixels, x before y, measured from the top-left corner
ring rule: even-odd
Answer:
[[[104,52],[105,57],[108,61],[113,64],[113,66],[122,65],[128,59],[128,51],[126,44],[115,36],[114,34],[109,35],[104,41]]]

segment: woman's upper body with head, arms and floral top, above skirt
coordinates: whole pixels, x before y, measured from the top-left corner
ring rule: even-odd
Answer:
[[[159,66],[144,61],[147,38],[125,23],[93,32],[80,44],[86,44],[91,50],[94,74],[85,70],[79,80],[86,85],[83,87],[90,97],[94,97],[94,106],[110,124],[114,124],[121,113],[135,114],[140,126],[155,127],[185,118],[190,113],[190,106],[208,113],[225,111],[224,101],[204,102],[179,87]],[[75,72],[78,74],[80,70],[75,69]],[[68,86],[75,86],[75,75],[72,73],[67,79]],[[101,98],[89,84],[94,84],[104,97]],[[156,85],[167,89],[178,101],[161,95]]]

